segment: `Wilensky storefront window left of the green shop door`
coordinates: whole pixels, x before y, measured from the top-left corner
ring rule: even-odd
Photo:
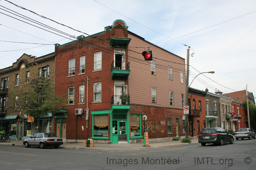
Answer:
[[[94,115],[93,137],[109,137],[108,115]]]

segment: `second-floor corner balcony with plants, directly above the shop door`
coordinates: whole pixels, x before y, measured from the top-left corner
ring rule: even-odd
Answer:
[[[113,95],[111,98],[113,113],[126,114],[130,110],[130,96]]]

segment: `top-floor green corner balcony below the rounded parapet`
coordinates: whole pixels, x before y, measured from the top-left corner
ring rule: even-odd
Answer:
[[[130,75],[130,62],[113,61],[111,64],[111,79],[125,78]]]

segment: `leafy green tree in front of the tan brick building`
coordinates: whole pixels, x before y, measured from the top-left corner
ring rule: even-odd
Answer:
[[[30,72],[28,77],[25,69],[20,71],[19,87],[10,89],[9,101],[14,111],[26,112],[37,120],[40,133],[40,117],[63,109],[66,100],[64,95],[55,93],[55,84],[43,70],[33,66]]]

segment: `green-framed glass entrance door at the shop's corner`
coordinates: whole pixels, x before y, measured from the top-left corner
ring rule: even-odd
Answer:
[[[126,120],[112,121],[112,144],[127,142]]]

